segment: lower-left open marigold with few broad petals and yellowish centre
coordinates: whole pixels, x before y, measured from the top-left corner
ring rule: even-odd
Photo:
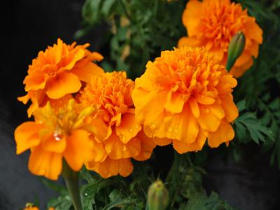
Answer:
[[[99,118],[92,118],[96,109],[80,107],[71,99],[59,109],[50,103],[34,112],[35,122],[26,122],[15,130],[17,154],[30,148],[29,170],[38,176],[57,179],[62,172],[62,158],[79,171],[85,162],[104,159],[99,153],[107,127]]]

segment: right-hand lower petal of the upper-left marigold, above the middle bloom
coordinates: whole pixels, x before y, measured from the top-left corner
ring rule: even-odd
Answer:
[[[90,84],[90,78],[92,78],[92,76],[103,76],[104,70],[97,66],[97,64],[89,62],[83,67],[72,69],[71,73],[76,74],[80,80]]]

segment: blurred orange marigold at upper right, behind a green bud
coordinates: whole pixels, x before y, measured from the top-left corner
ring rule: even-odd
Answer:
[[[228,58],[228,45],[232,36],[242,31],[246,36],[246,45],[241,56],[235,62],[230,73],[240,77],[253,65],[253,57],[258,57],[258,48],[262,43],[262,29],[242,10],[240,3],[230,0],[191,0],[187,3],[182,17],[188,37],[179,40],[179,47],[204,46],[216,53],[221,64]]]

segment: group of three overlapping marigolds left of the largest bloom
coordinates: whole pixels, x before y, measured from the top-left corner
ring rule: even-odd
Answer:
[[[130,159],[147,160],[155,148],[135,120],[134,81],[125,72],[104,73],[92,63],[102,55],[87,46],[58,39],[29,66],[20,100],[31,99],[35,120],[18,126],[15,141],[17,154],[31,150],[33,174],[57,179],[65,160],[74,171],[85,164],[104,178],[128,176]]]

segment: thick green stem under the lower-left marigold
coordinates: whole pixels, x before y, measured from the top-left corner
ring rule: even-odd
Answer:
[[[78,172],[74,172],[67,162],[63,160],[62,176],[69,191],[73,207],[75,210],[83,210],[80,202],[80,189],[78,185]]]

